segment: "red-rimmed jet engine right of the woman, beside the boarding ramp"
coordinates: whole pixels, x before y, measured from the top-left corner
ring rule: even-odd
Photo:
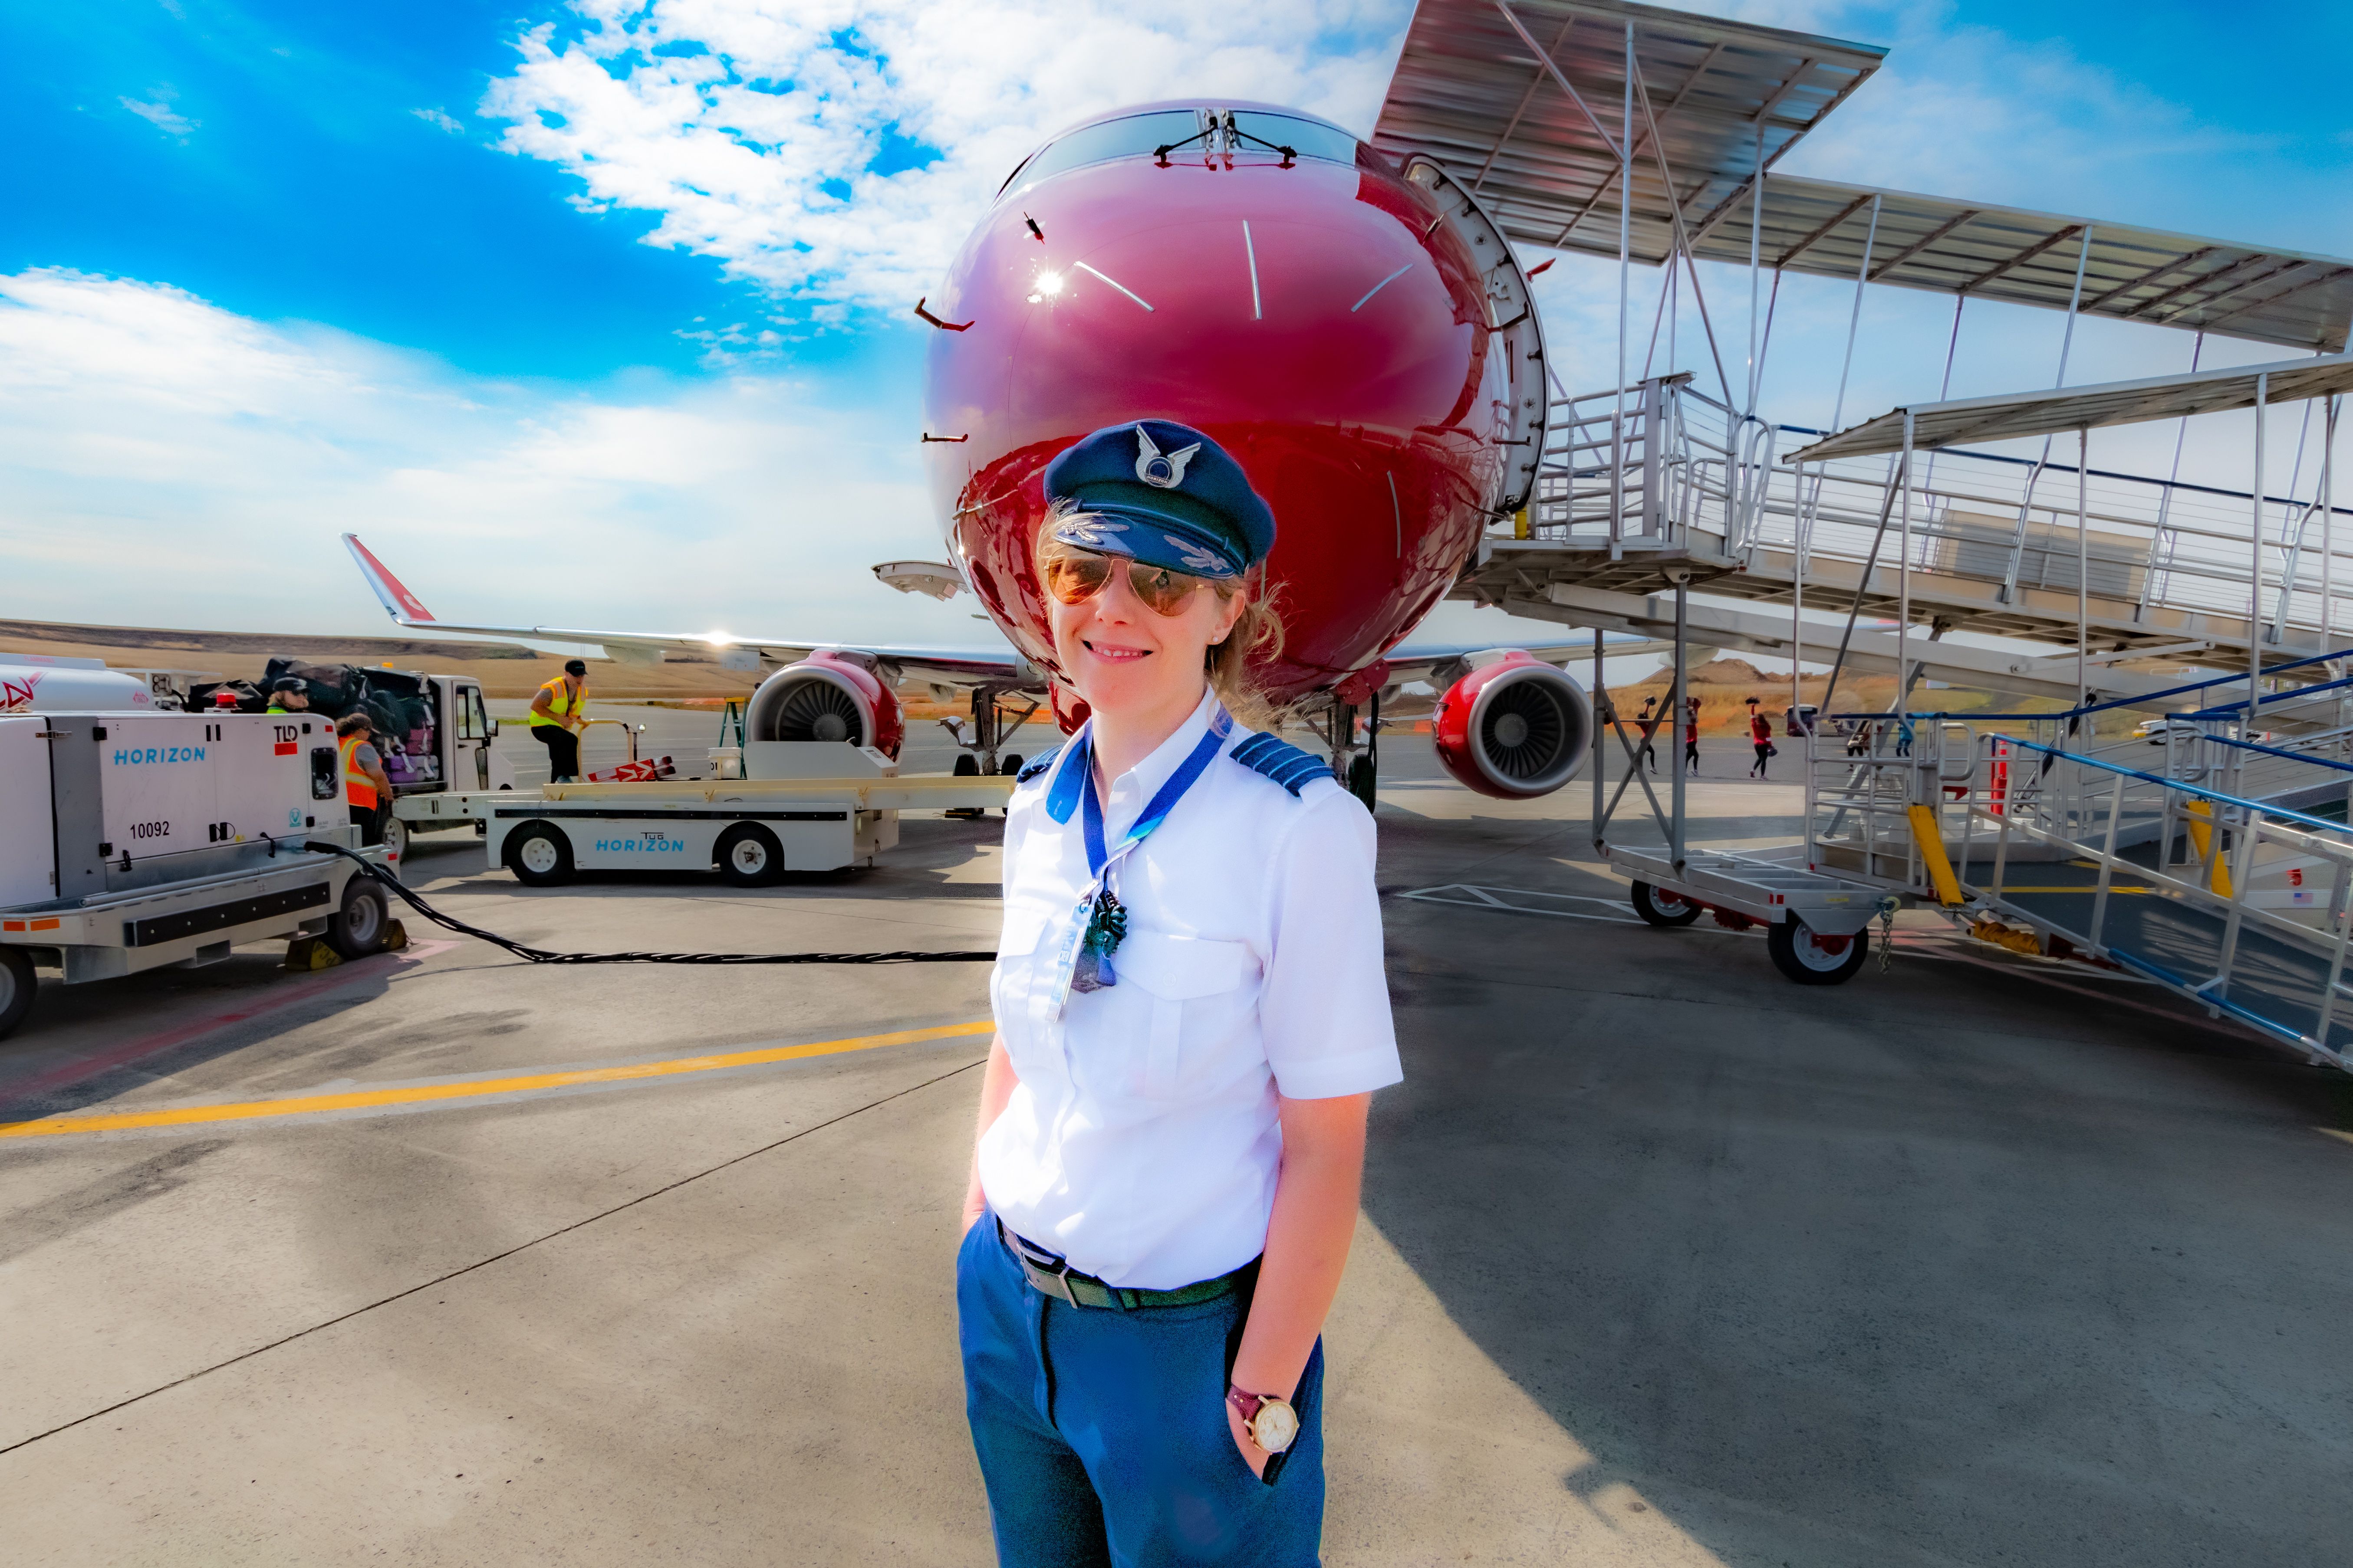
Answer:
[[[1471,656],[1431,717],[1438,762],[1497,799],[1548,795],[1577,778],[1593,745],[1593,703],[1567,672],[1520,649]]]

